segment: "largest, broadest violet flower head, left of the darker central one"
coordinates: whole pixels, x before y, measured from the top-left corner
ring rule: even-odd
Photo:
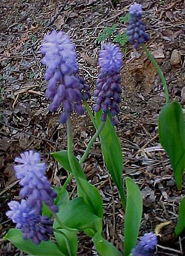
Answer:
[[[84,113],[82,100],[89,98],[89,86],[78,74],[75,45],[67,34],[53,30],[45,35],[41,53],[42,63],[47,66],[44,78],[49,81],[46,97],[52,101],[49,110],[55,112],[63,105],[59,120],[65,124],[72,111]]]

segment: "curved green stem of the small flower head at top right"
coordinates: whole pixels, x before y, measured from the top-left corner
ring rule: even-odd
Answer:
[[[166,103],[169,102],[169,93],[168,93],[168,87],[167,87],[167,82],[165,80],[165,77],[163,75],[162,70],[160,69],[160,67],[158,66],[157,62],[155,61],[154,57],[152,56],[152,54],[149,52],[149,50],[146,48],[146,45],[142,45],[142,49],[144,49],[144,51],[146,51],[147,56],[149,57],[150,61],[152,61],[152,64],[154,65],[155,69],[157,69],[158,75],[160,77],[160,79],[162,80],[163,83],[163,88],[165,91],[165,98],[166,98]]]

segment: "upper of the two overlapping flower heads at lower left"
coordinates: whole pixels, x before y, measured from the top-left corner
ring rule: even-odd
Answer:
[[[46,172],[46,163],[40,163],[39,153],[25,151],[20,154],[21,158],[16,157],[15,162],[19,163],[14,166],[15,175],[20,179],[20,197],[27,197],[27,203],[31,208],[36,208],[41,212],[42,202],[46,203],[49,209],[56,213],[58,208],[54,205],[54,198],[57,194],[51,188]]]

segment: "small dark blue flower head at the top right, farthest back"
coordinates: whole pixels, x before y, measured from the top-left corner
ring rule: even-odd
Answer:
[[[138,49],[139,45],[149,40],[145,25],[142,21],[142,6],[136,2],[130,6],[130,23],[127,30],[128,40]]]

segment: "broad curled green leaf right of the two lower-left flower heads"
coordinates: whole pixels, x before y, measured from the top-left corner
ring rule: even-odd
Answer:
[[[91,213],[81,197],[75,198],[65,204],[63,208],[60,208],[57,215],[60,221],[68,228],[88,232],[91,237],[96,232],[102,231],[102,219]],[[59,224],[56,221],[54,221],[54,228],[59,228]]]

